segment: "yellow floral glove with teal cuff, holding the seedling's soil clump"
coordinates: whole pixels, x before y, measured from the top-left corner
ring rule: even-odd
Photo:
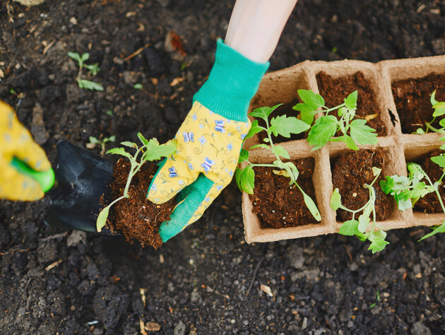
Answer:
[[[163,204],[177,196],[170,221],[160,226],[167,241],[203,212],[235,174],[242,141],[250,128],[247,110],[269,63],[256,63],[218,40],[208,81],[177,131],[177,153],[162,162],[148,199]]]

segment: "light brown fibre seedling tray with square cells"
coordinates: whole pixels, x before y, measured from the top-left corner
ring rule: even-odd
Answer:
[[[402,134],[396,104],[391,93],[391,84],[408,78],[422,78],[428,74],[445,74],[445,56],[423,57],[416,59],[396,59],[369,63],[367,61],[304,61],[287,69],[266,74],[258,93],[252,99],[250,110],[261,106],[273,106],[277,103],[295,101],[297,90],[307,89],[319,93],[316,74],[324,71],[333,78],[350,76],[361,71],[372,85],[379,103],[381,119],[386,125],[387,136],[379,137],[375,146],[365,148],[382,148],[385,153],[384,175],[407,175],[406,163],[437,149],[443,144],[440,134]],[[297,114],[297,111],[295,111]],[[391,118],[393,121],[391,121]],[[254,136],[247,140],[244,148],[259,143]],[[300,225],[291,228],[261,228],[258,216],[252,213],[253,205],[249,194],[243,192],[242,213],[244,217],[244,233],[247,242],[271,242],[299,237],[309,237],[329,233],[337,233],[341,222],[336,221],[336,212],[329,203],[333,193],[331,176],[331,158],[344,151],[345,143],[328,142],[324,148],[312,151],[312,146],[305,139],[280,143],[290,154],[291,159],[313,157],[315,160],[312,182],[316,192],[316,203],[322,220],[317,224]],[[272,163],[274,156],[263,148],[251,150],[249,160],[252,163]],[[408,228],[416,225],[437,225],[445,219],[444,213],[422,213],[415,209],[399,211],[393,206],[393,213],[388,220],[378,224],[385,230]]]

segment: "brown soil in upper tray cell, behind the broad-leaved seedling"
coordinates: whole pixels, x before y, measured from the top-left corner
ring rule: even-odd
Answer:
[[[326,102],[326,107],[335,107],[343,102],[350,93],[357,90],[357,110],[354,119],[368,117],[369,127],[376,129],[378,136],[386,136],[386,126],[380,117],[380,109],[371,83],[364,78],[362,72],[352,76],[333,78],[324,71],[316,75],[320,95]],[[333,114],[337,115],[337,114]]]

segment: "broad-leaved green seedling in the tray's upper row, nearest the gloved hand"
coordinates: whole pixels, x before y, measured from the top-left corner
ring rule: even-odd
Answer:
[[[316,113],[324,113],[315,120],[307,136],[309,144],[314,146],[312,150],[322,148],[328,141],[342,141],[352,150],[358,150],[356,142],[362,146],[378,142],[375,129],[366,125],[366,119],[353,119],[357,110],[357,90],[348,95],[343,104],[332,108],[326,107],[324,98],[311,90],[298,90],[298,95],[303,103],[298,103],[293,109],[301,113],[302,121],[312,124]],[[329,114],[335,110],[338,118]],[[338,131],[343,135],[334,137]]]

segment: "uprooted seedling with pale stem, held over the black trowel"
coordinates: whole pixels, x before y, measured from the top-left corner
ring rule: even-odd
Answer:
[[[157,139],[150,139],[150,141],[148,141],[141,133],[138,133],[138,139],[142,142],[141,147],[138,147],[136,143],[133,142],[121,142],[121,145],[123,146],[136,149],[136,153],[134,153],[134,155],[131,155],[131,153],[127,152],[124,148],[113,148],[107,151],[107,153],[123,155],[124,157],[128,158],[131,163],[131,168],[129,177],[126,180],[124,194],[122,194],[122,196],[119,196],[119,198],[114,199],[114,201],[112,201],[112,203],[109,204],[107,207],[103,208],[97,216],[96,226],[98,232],[100,232],[107,223],[109,208],[116,204],[117,201],[120,201],[124,198],[129,198],[129,188],[131,180],[134,175],[136,175],[136,173],[141,170],[143,163],[146,163],[147,160],[158,160],[162,157],[168,157],[176,152],[177,142],[174,140],[168,141],[164,144],[160,144]],[[139,154],[141,154],[140,158],[138,157]]]

